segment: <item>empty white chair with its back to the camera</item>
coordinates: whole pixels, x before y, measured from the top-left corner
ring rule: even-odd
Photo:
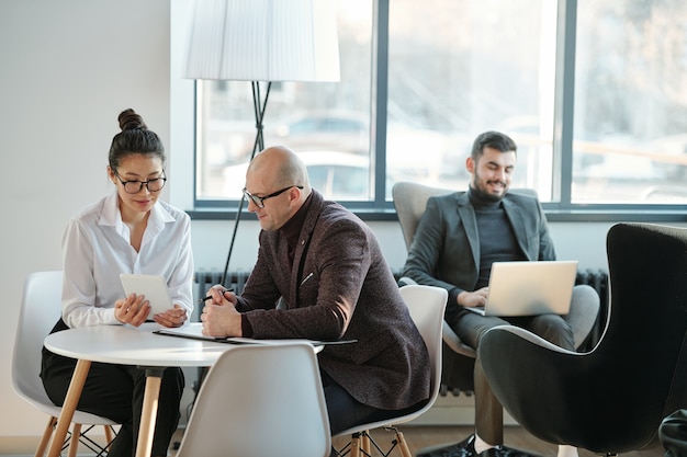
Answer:
[[[210,368],[177,457],[325,457],[327,405],[311,344],[233,347]]]

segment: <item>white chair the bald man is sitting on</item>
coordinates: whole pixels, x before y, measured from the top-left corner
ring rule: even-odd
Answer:
[[[384,421],[357,425],[339,433],[337,436],[351,435],[350,443],[345,447],[345,449],[339,452],[340,454],[346,450],[350,450],[351,457],[359,457],[360,455],[370,456],[371,444],[382,452],[380,446],[370,437],[369,431],[384,427],[394,431],[395,439],[392,442],[391,449],[386,453],[382,452],[383,455],[390,455],[393,448],[397,445],[403,457],[413,457],[410,450],[408,449],[408,445],[403,437],[403,433],[395,429],[395,425],[419,418],[427,410],[429,410],[432,404],[435,404],[435,401],[439,396],[439,387],[441,385],[441,322],[443,322],[443,310],[446,308],[448,293],[446,289],[440,287],[413,284],[401,287],[401,295],[408,306],[410,317],[423,335],[423,340],[425,340],[425,344],[429,351],[431,369],[429,399],[423,408],[413,413],[391,418]],[[350,449],[347,449],[348,447],[350,447]]]

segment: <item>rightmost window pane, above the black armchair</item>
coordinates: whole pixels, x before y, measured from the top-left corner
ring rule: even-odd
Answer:
[[[573,203],[687,203],[687,3],[577,13]]]

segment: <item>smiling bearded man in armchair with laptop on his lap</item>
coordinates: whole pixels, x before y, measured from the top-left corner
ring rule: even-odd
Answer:
[[[477,136],[465,161],[471,174],[468,192],[429,198],[403,276],[446,288],[449,301],[444,318],[460,339],[475,349],[488,329],[514,324],[574,351],[573,330],[561,315],[567,313],[571,301],[598,301],[598,295],[589,286],[574,286],[576,262],[554,262],[553,241],[539,201],[508,193],[516,150],[515,141],[502,133]],[[521,270],[528,266],[538,271]],[[556,284],[549,290],[538,288],[530,279],[541,275],[548,276],[544,284]],[[516,289],[508,289],[509,285]],[[516,310],[515,306],[533,308]],[[550,308],[553,306],[559,308]],[[493,311],[493,307],[506,311]],[[478,357],[474,384],[475,434],[423,457],[526,455],[503,445],[503,407],[492,392]],[[559,457],[576,456],[576,448],[559,447]]]

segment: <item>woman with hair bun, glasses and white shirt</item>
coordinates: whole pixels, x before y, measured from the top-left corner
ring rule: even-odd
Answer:
[[[145,297],[125,296],[120,273],[162,275],[174,307],[153,319],[179,327],[193,310],[189,216],[158,201],[165,186],[165,147],[133,110],[119,116],[108,176],[115,192],[82,209],[63,239],[63,315],[53,332],[86,325],[145,322]],[[76,359],[43,349],[41,378],[50,400],[61,405]],[[110,457],[134,455],[145,391],[145,373],[135,366],[93,363],[78,409],[122,424]],[[166,456],[179,422],[184,379],[180,368],[162,376],[153,456]]]

